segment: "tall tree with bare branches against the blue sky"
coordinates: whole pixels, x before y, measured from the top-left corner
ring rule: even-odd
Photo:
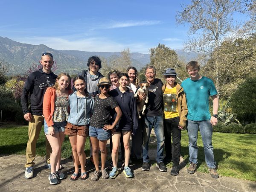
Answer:
[[[239,8],[238,0],[192,0],[189,5],[182,4],[182,12],[176,16],[177,23],[189,24],[191,38],[185,49],[210,55],[218,48],[229,33],[238,28],[233,13]],[[215,84],[219,91],[218,57],[214,60]]]

